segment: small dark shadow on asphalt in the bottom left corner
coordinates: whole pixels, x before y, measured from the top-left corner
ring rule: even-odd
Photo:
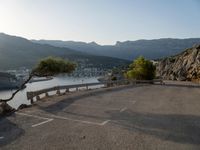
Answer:
[[[5,116],[0,116],[0,147],[10,144],[24,133],[23,129],[19,128]]]

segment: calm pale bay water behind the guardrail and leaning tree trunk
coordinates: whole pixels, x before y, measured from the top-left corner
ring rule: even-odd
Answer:
[[[14,108],[18,108],[21,104],[30,104],[30,101],[28,101],[26,97],[27,91],[35,91],[35,90],[54,87],[58,85],[71,85],[71,84],[93,83],[93,82],[98,82],[98,80],[95,77],[94,78],[74,78],[74,77],[68,77],[68,76],[59,76],[49,81],[28,83],[27,87],[24,90],[20,91],[14,97],[12,101],[8,102],[8,104]],[[0,91],[0,98],[9,98],[12,92],[14,92],[14,90]],[[54,94],[54,93],[51,93],[51,94]]]

